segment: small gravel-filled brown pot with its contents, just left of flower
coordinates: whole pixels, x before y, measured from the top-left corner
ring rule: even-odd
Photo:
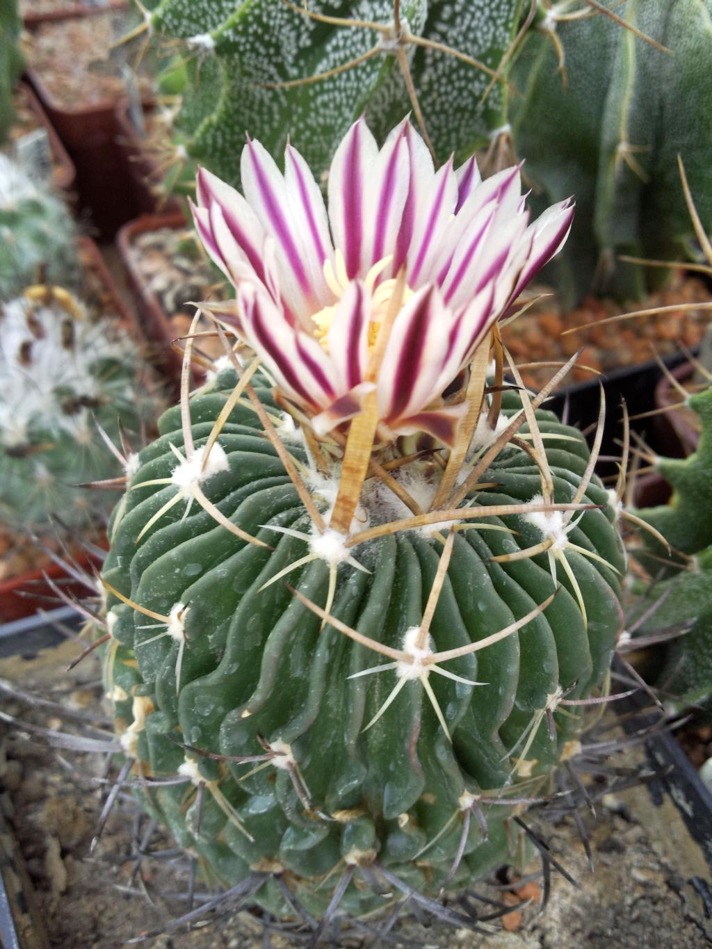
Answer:
[[[182,357],[171,344],[190,330],[191,301],[230,299],[221,280],[198,248],[192,226],[182,214],[147,215],[125,225],[118,236],[126,278],[133,290],[146,335],[160,347],[169,376],[180,379]],[[201,320],[197,332],[210,331]],[[223,355],[218,339],[196,341],[195,351],[210,362]]]

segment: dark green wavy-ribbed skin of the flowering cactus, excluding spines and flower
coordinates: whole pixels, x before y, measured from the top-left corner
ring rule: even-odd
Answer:
[[[197,446],[210,433],[233,385],[234,375],[223,374],[214,391],[199,393],[191,401]],[[267,390],[258,393],[271,403]],[[515,399],[505,400],[506,412],[516,408]],[[555,446],[548,449],[555,499],[570,501],[586,467],[588,448],[576,430],[561,425],[551,413],[539,412],[538,419],[544,434],[576,439],[546,442]],[[182,445],[178,408],[165,413],[159,430],[159,439],[141,453],[134,484],[165,477],[175,467],[169,442]],[[114,681],[129,695],[116,702],[118,728],[132,721],[132,695],[151,698],[156,711],[140,733],[139,751],[143,767],[155,774],[177,772],[185,752],[176,742],[227,755],[261,754],[258,734],[271,742],[288,742],[318,814],[303,807],[285,770],[270,765],[245,777],[253,766],[204,757],[196,757],[200,772],[207,781],[218,782],[253,841],[226,819],[209,791],[204,794],[198,837],[193,832],[195,807],[185,803],[195,795],[191,798],[185,785],[146,791],[146,806],[169,825],[182,846],[197,852],[211,879],[234,885],[251,868],[273,867],[277,862],[285,867],[285,879],[297,898],[315,915],[325,911],[343,873],[340,862],[354,849],[375,851],[377,860],[405,883],[437,894],[459,846],[461,817],[418,854],[459,809],[462,792],[497,791],[510,778],[516,781],[516,752],[513,757],[508,752],[557,686],[571,689],[575,698],[602,683],[621,626],[617,574],[581,555],[570,555],[587,604],[588,633],[560,569],[563,588],[545,613],[507,639],[443,666],[487,685],[471,687],[430,677],[453,744],[440,728],[420,681],[408,682],[364,733],[365,724],[396,684],[395,674],[347,679],[384,658],[333,627],[320,631],[319,619],[292,596],[285,582],[257,592],[277,570],[306,552],[303,541],[260,525],[309,530],[309,519],[251,410],[234,409],[220,444],[231,470],[207,480],[205,492],[234,523],[274,549],[242,542],[215,525],[197,505],[181,520],[183,502],[137,544],[143,525],[175,489],[129,491],[114,526],[106,580],[134,602],[161,614],[168,614],[178,602],[189,604],[190,610],[177,695],[178,643],[166,637],[134,652],[135,645],[157,633],[136,627],[153,621],[109,596],[108,605],[119,617],[113,635],[120,645],[107,655],[112,657]],[[298,446],[289,447],[300,455]],[[501,453],[483,480],[498,485],[495,491],[478,494],[478,503],[484,506],[527,501],[540,491],[534,462],[512,447]],[[571,539],[623,570],[614,514],[605,506],[607,494],[594,479],[586,496],[604,507],[587,512]],[[553,592],[546,555],[515,563],[491,562],[494,554],[541,539],[519,516],[501,523],[519,534],[466,530],[456,536],[430,629],[439,650],[497,632]],[[440,549],[434,540],[412,531],[357,549],[371,573],[340,568],[333,614],[366,636],[400,648],[403,632],[421,621]],[[325,604],[328,568],[323,562],[294,571],[289,581],[317,604]],[[565,744],[580,729],[576,708],[567,712],[574,716],[555,714],[554,739],[546,721],[535,731],[527,761],[534,761],[532,773],[539,776],[534,788],[539,790],[547,787]],[[526,787],[522,793],[531,794],[531,782]],[[351,819],[341,811],[350,811]],[[323,819],[334,813],[340,819]],[[485,809],[487,841],[482,840],[478,822],[471,821],[453,886],[467,884],[514,858],[517,834],[508,821],[511,813],[506,807]],[[334,867],[336,871],[319,886]],[[272,883],[260,889],[257,899],[281,916],[293,912]],[[343,906],[364,913],[383,904],[383,897],[373,894],[357,870]]]

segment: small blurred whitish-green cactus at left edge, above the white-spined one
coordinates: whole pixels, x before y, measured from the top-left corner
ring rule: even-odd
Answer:
[[[40,281],[75,288],[77,230],[66,205],[0,155],[0,300]]]

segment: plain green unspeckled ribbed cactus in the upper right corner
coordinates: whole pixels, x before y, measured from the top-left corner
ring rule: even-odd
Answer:
[[[712,229],[712,3],[605,5],[639,35],[574,6],[539,3],[510,75],[524,93],[510,98],[512,132],[534,206],[576,195],[576,228],[553,265],[562,298],[591,288],[637,297],[661,271],[619,254],[692,251],[678,155]]]

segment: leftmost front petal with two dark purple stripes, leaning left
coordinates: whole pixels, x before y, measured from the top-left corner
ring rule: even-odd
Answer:
[[[330,405],[339,395],[339,381],[314,337],[290,326],[264,290],[241,284],[237,301],[247,342],[283,391],[311,409]]]

